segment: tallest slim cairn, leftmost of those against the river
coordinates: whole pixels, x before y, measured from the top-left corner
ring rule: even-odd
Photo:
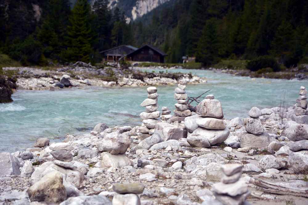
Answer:
[[[145,99],[140,106],[145,107],[145,112],[140,113],[140,118],[142,118],[142,125],[140,132],[142,134],[153,134],[154,128],[157,122],[160,122],[159,116],[160,111],[157,111],[159,106],[157,104],[158,94],[156,87],[148,87],[148,98]]]

